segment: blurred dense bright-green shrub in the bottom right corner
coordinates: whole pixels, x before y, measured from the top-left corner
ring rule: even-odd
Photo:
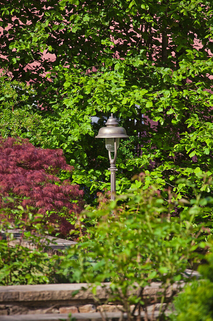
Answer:
[[[174,321],[212,321],[213,320],[213,255],[206,256],[209,264],[201,265],[201,280],[193,281],[185,287],[174,300]]]

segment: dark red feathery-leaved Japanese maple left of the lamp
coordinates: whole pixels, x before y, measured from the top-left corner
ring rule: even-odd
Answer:
[[[61,149],[42,149],[28,139],[0,137],[0,207],[33,206],[33,212],[44,218],[51,211],[48,220],[57,222],[60,233],[67,234],[73,228],[67,219],[83,208],[83,190],[70,180],[61,182],[55,176],[61,169],[73,169]],[[10,195],[15,202],[5,202]]]

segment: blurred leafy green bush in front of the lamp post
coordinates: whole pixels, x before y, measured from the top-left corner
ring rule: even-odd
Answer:
[[[64,275],[63,282],[92,284],[94,296],[96,285],[110,281],[109,301],[120,300],[130,320],[131,304],[146,307],[142,298],[146,285],[162,282],[159,298],[164,303],[168,287],[185,279],[185,268],[198,259],[193,251],[199,245],[199,227],[193,227],[194,214],[184,215],[185,221],[170,217],[156,189],[128,196],[131,200],[123,205],[111,202],[82,213],[91,226],[80,244],[61,256],[56,273],[59,279]]]

